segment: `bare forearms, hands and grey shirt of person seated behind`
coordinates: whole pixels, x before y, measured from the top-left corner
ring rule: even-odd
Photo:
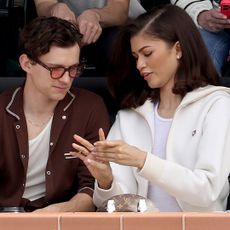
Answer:
[[[85,44],[96,42],[102,33],[102,28],[123,24],[129,12],[129,0],[34,0],[34,2],[38,15],[56,16],[78,24]],[[130,7],[132,17],[144,12],[138,0],[131,0]]]

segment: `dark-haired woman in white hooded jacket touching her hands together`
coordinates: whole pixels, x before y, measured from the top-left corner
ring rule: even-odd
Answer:
[[[141,15],[121,31],[112,67],[121,110],[108,139],[75,135],[69,153],[96,178],[95,204],[134,193],[161,211],[225,210],[230,89],[217,86],[191,18],[172,5]]]

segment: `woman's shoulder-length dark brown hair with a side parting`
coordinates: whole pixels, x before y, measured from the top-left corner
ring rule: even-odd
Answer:
[[[198,87],[219,84],[217,71],[190,16],[177,6],[166,5],[140,15],[120,30],[111,60],[108,83],[121,108],[136,108],[147,98],[159,98],[159,90],[151,89],[140,76],[131,53],[130,39],[141,33],[159,38],[169,46],[179,42],[182,57],[176,72],[173,93],[183,97]]]

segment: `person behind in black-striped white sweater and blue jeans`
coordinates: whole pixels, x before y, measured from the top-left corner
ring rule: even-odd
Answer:
[[[179,0],[176,4],[193,18],[219,75],[222,75],[230,50],[230,19],[220,12],[220,1]]]

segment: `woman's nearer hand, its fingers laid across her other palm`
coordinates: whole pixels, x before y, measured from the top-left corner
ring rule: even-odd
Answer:
[[[146,152],[128,145],[124,141],[98,141],[92,154],[100,161],[112,161],[141,169],[144,166]]]

